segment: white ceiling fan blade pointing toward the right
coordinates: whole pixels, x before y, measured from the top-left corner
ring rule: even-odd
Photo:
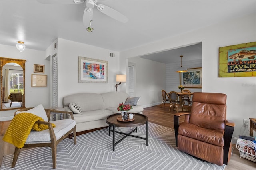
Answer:
[[[97,9],[106,14],[107,16],[110,16],[111,18],[114,18],[115,20],[118,20],[120,22],[126,23],[128,22],[128,18],[126,16],[124,16],[123,14],[121,14],[120,12],[106,6],[106,5],[102,5],[99,4]]]

